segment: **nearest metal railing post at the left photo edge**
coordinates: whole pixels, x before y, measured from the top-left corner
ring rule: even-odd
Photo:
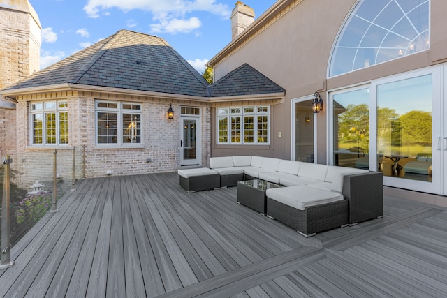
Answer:
[[[3,179],[3,198],[1,209],[1,262],[0,269],[9,268],[14,265],[14,262],[10,262],[10,163],[13,160],[7,155],[3,159],[5,165],[5,177]]]

